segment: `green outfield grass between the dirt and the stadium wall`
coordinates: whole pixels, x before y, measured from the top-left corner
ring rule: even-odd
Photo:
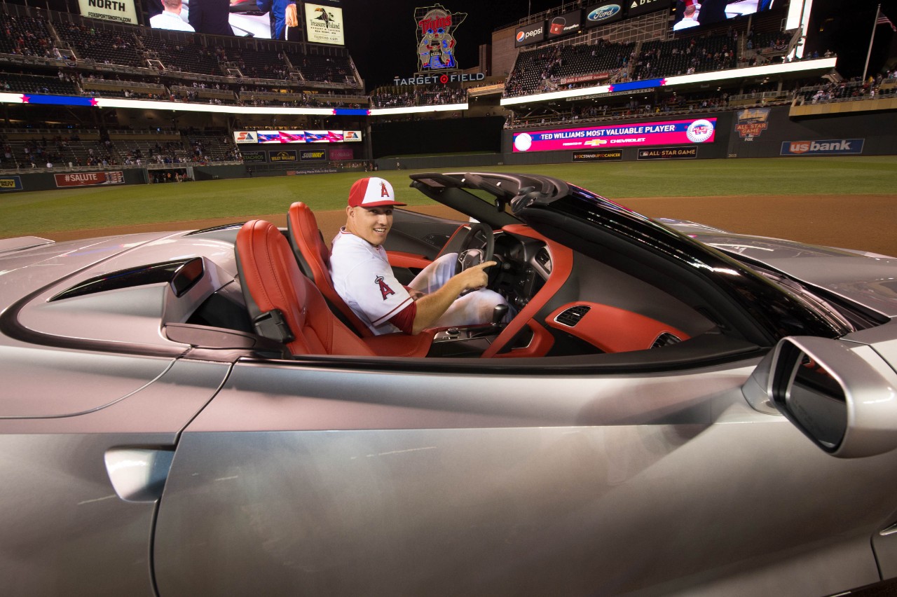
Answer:
[[[897,195],[897,157],[671,160],[478,168],[545,174],[600,195]],[[167,221],[286,212],[294,201],[314,210],[343,209],[363,173],[255,177],[196,183],[107,186],[0,195],[0,238]],[[383,171],[399,197],[429,203],[407,189],[408,171]]]

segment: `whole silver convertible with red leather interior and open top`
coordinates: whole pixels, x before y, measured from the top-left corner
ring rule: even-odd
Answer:
[[[9,595],[818,596],[897,576],[897,260],[421,173],[401,280],[492,323],[372,337],[303,203],[0,240]]]

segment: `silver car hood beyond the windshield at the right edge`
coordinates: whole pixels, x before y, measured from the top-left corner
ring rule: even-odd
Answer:
[[[736,259],[762,264],[884,316],[897,316],[897,258],[733,234],[692,221],[658,221]]]

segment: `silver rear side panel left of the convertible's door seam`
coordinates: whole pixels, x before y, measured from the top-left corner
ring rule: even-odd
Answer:
[[[118,401],[77,413],[83,410],[83,394],[109,393],[106,385],[124,384],[118,375],[133,374],[127,374],[123,362],[103,375],[97,371],[109,357],[83,355],[82,365],[91,356],[98,359],[96,369],[84,370],[84,375],[94,373],[93,381],[60,379],[59,367],[78,361],[57,350],[47,352],[52,353],[48,359],[37,361],[47,367],[41,372],[36,364],[27,373],[35,383],[56,380],[56,387],[32,387],[28,397],[54,404],[50,411],[60,416],[0,420],[0,496],[7,506],[0,516],[4,593],[152,596],[152,529],[163,480],[141,470],[134,458],[116,456],[128,448],[172,453],[179,432],[212,399],[229,367],[176,362]],[[123,360],[139,371],[146,359]],[[14,370],[5,359],[0,363],[2,378],[9,380]],[[66,398],[73,402],[68,407]],[[148,483],[144,487],[141,477]],[[131,493],[119,496],[116,485]]]

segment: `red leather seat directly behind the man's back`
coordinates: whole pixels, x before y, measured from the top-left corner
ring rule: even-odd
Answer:
[[[383,356],[423,357],[430,351],[435,330],[424,330],[417,335],[387,333],[376,336],[336,292],[330,278],[330,251],[318,231],[318,220],[309,206],[302,202],[293,203],[287,213],[287,230],[290,245],[296,261],[306,274],[315,281],[318,290],[335,307],[344,322],[351,324],[365,342]]]

